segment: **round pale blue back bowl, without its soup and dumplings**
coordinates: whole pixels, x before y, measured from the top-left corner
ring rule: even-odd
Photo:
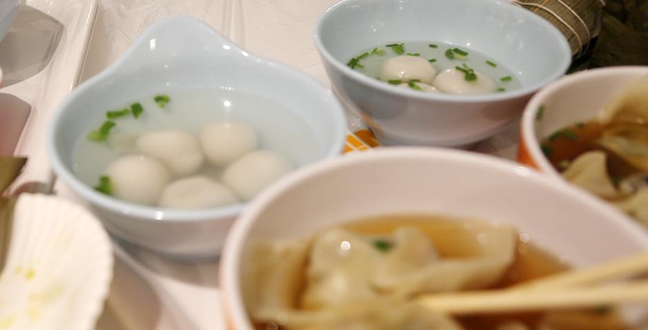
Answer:
[[[481,96],[423,94],[365,76],[345,63],[394,42],[452,43],[512,70],[522,87]],[[316,24],[315,44],[341,98],[384,144],[465,146],[517,118],[537,89],[565,73],[569,45],[553,25],[504,0],[343,0]]]

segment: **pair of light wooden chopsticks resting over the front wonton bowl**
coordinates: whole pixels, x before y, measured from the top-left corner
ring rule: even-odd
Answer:
[[[492,292],[425,295],[418,298],[418,303],[454,315],[648,303],[648,280],[594,286],[600,281],[647,272],[648,252],[645,252]]]

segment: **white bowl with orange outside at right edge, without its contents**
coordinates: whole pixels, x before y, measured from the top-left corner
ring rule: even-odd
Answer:
[[[606,67],[571,74],[540,89],[527,104],[520,127],[518,162],[562,179],[540,148],[551,133],[587,122],[648,67]]]

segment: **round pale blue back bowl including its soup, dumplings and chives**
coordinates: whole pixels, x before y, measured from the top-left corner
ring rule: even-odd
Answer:
[[[345,0],[315,34],[332,88],[383,144],[482,140],[571,61],[563,34],[507,1]]]

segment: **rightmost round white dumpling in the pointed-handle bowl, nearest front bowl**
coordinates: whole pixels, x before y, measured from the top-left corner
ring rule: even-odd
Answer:
[[[227,166],[223,171],[223,182],[248,200],[291,170],[290,161],[279,153],[254,151]]]

